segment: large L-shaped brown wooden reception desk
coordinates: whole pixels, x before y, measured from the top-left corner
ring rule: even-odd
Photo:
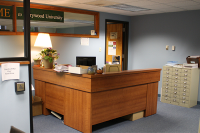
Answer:
[[[84,133],[92,125],[128,114],[157,111],[161,69],[128,70],[100,75],[57,73],[33,67],[35,95],[42,98],[43,114],[64,115],[64,124]]]

